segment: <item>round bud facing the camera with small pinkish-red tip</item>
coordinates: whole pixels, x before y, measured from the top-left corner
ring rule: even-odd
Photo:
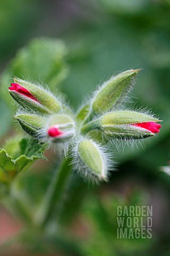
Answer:
[[[75,135],[75,123],[66,114],[57,114],[50,117],[47,126],[47,137],[52,142],[67,142]]]

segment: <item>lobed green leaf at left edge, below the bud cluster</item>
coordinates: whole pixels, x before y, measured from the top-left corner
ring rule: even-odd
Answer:
[[[18,155],[18,157],[15,158],[11,156],[4,148],[0,150],[1,182],[8,182],[12,180],[18,172],[22,171],[24,167],[27,167],[29,163],[33,162],[33,160],[46,159],[43,155],[45,146],[40,145],[36,140],[22,138],[21,140],[18,140],[17,145],[16,137],[14,137],[13,141],[10,139],[10,142],[6,143],[6,147],[10,151],[11,155]],[[18,152],[16,152],[16,149]]]

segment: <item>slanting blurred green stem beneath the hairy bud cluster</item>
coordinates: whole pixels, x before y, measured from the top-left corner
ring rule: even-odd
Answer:
[[[61,202],[70,177],[69,162],[69,159],[64,158],[61,166],[56,169],[40,209],[34,218],[35,225],[44,227],[53,216],[57,204]]]

